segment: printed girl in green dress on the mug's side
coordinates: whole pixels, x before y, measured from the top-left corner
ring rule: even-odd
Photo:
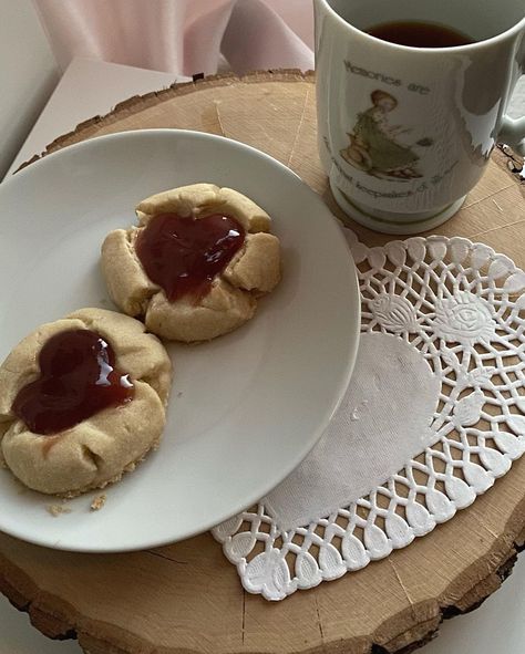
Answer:
[[[398,101],[379,89],[370,97],[373,106],[358,114],[353,132],[348,133],[350,145],[341,150],[342,158],[374,177],[401,181],[422,177],[415,167],[420,157],[413,152],[413,146],[397,141],[398,135],[409,133],[411,128],[389,125],[388,114],[398,106]],[[426,147],[432,145],[432,141],[422,138],[415,145]]]

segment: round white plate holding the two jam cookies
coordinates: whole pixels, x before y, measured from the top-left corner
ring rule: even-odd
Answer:
[[[284,279],[256,316],[198,346],[168,345],[175,378],[161,448],[104,492],[68,504],[21,491],[0,471],[0,529],[58,549],[109,552],[204,531],[254,504],[315,445],[356,359],[359,293],[344,238],[288,168],[218,136],[152,129],[104,136],[37,162],[0,186],[0,361],[43,322],[113,308],[99,270],[111,229],[166,188],[213,181],[274,219]],[[59,500],[60,502],[60,500]]]

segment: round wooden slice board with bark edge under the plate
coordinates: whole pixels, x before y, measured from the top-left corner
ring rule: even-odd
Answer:
[[[198,129],[258,147],[290,166],[343,218],[318,159],[310,74],[208,77],[133,97],[48,152],[151,127]],[[507,164],[495,152],[463,209],[437,231],[482,240],[525,267],[523,191]],[[368,245],[389,239],[352,228]],[[78,637],[90,654],[406,653],[430,640],[443,617],[493,593],[524,540],[525,457],[431,534],[284,602],[246,593],[208,533],[111,556],[59,552],[0,534],[0,590],[29,611],[37,629],[51,637]]]

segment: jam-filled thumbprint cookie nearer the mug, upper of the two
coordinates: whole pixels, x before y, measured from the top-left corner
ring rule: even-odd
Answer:
[[[146,198],[138,227],[102,245],[115,304],[171,341],[208,341],[254,316],[280,279],[268,214],[231,188],[192,184]]]

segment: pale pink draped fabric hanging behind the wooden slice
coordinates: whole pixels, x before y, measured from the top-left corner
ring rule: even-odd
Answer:
[[[311,0],[34,2],[63,69],[73,56],[186,75],[313,68]]]

